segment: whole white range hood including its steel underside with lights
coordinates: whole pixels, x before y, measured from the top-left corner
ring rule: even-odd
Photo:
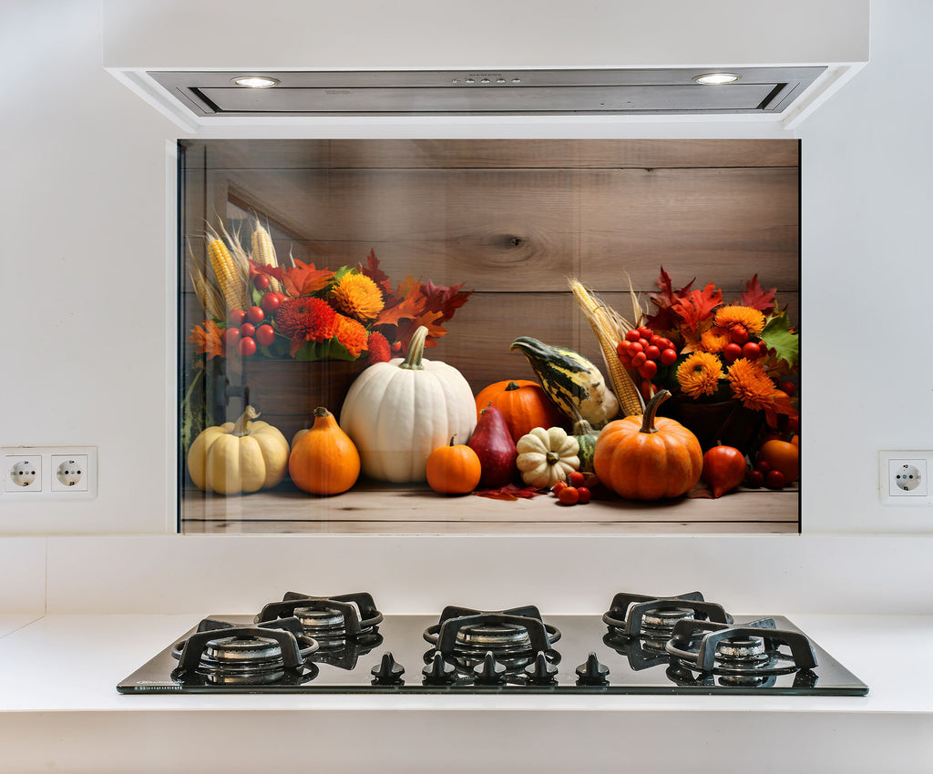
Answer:
[[[868,61],[868,42],[869,0],[104,0],[104,67],[189,131],[509,117],[787,129]],[[710,74],[731,82],[698,81]]]

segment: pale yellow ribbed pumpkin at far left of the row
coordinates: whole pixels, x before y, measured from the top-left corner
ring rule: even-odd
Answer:
[[[236,422],[208,427],[188,449],[194,485],[219,494],[240,494],[278,485],[288,470],[288,441],[269,422],[254,422],[247,406]]]

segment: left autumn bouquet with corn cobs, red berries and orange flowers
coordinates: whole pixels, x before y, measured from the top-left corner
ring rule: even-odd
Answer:
[[[209,268],[192,274],[207,319],[188,340],[208,359],[387,361],[408,351],[420,325],[428,329],[425,346],[437,346],[443,324],[472,293],[462,283],[445,287],[413,277],[393,287],[371,250],[365,265],[338,270],[298,259],[281,266],[258,222],[250,254],[235,236],[213,230],[207,254]]]

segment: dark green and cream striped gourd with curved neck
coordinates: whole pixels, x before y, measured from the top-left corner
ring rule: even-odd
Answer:
[[[594,428],[602,428],[619,413],[619,401],[603,374],[581,354],[528,336],[515,339],[509,349],[528,358],[541,386],[570,420],[576,421],[579,414]]]

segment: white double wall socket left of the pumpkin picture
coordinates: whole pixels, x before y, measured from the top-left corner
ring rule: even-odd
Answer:
[[[0,497],[91,500],[97,496],[97,447],[0,447]]]

